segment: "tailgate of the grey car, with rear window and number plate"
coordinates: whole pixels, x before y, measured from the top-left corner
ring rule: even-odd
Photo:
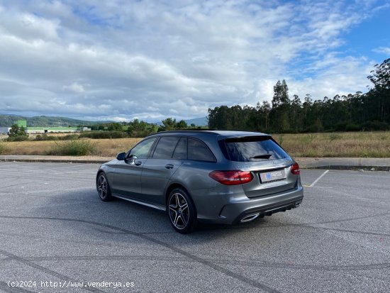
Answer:
[[[294,161],[271,136],[245,136],[218,141],[235,170],[250,171],[253,179],[243,184],[247,197],[262,197],[296,187],[299,175],[291,173]]]

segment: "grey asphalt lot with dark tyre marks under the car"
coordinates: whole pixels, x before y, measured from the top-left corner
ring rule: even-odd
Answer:
[[[181,235],[98,167],[0,162],[1,292],[390,292],[390,172],[302,170],[298,209]]]

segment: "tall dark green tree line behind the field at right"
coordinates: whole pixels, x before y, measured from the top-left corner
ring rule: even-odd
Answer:
[[[369,92],[313,97],[289,96],[286,82],[274,85],[271,103],[208,109],[208,127],[265,133],[390,130],[390,58],[375,65]]]

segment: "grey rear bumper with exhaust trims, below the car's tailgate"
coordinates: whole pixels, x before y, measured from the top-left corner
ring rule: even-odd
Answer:
[[[270,216],[279,211],[294,209],[303,200],[303,187],[298,184],[291,189],[280,194],[272,194],[266,197],[257,197],[242,200],[230,201],[222,206],[218,216],[199,218],[199,221],[208,223],[239,223],[242,219],[249,219],[248,216]],[[255,219],[254,218],[254,219]]]

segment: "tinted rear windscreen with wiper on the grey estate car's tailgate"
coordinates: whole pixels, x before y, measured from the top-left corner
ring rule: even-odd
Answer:
[[[236,162],[257,162],[289,157],[270,136],[228,138],[225,140],[228,160]]]

